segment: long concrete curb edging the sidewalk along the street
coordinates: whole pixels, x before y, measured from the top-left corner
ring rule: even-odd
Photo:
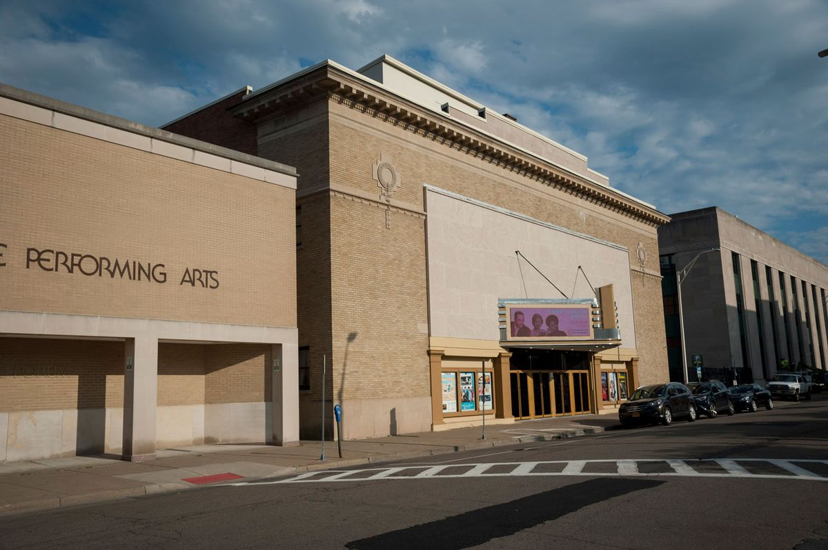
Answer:
[[[180,493],[190,490],[207,489],[210,487],[236,485],[239,483],[249,481],[274,480],[280,477],[291,476],[293,474],[306,473],[309,471],[331,470],[337,467],[362,466],[364,464],[382,464],[383,462],[394,462],[404,458],[434,457],[439,455],[451,454],[453,452],[479,451],[481,449],[507,447],[509,445],[516,445],[527,442],[544,442],[556,441],[559,439],[580,438],[601,432],[604,432],[604,428],[594,426],[590,428],[566,430],[565,432],[561,433],[526,435],[513,439],[500,439],[490,442],[474,442],[466,443],[465,445],[446,445],[444,447],[431,449],[429,451],[398,452],[383,455],[382,457],[336,459],[335,462],[321,462],[318,464],[308,464],[306,466],[286,466],[279,470],[272,471],[271,473],[265,476],[246,477],[241,481],[237,480],[229,483],[220,483],[216,485],[181,485],[179,483],[161,483],[143,485],[142,487],[126,487],[123,489],[96,491],[93,493],[84,493],[82,495],[65,495],[55,496],[46,499],[26,500],[23,502],[16,502],[9,505],[0,506],[0,518],[7,518],[16,514],[26,514],[31,512],[39,512],[50,509],[65,508],[70,506],[90,505],[101,502],[112,502],[115,500],[125,500],[148,495],[165,495],[169,493]]]

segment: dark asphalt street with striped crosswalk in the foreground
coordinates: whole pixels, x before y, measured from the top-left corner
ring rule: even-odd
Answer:
[[[828,399],[0,519],[51,547],[828,548]]]

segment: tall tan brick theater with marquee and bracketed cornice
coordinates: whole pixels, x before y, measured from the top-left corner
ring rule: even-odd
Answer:
[[[303,438],[322,429],[323,358],[345,438],[609,412],[667,379],[667,216],[513,117],[383,56],[241,88],[165,128],[299,171]],[[585,325],[511,337],[518,308]]]

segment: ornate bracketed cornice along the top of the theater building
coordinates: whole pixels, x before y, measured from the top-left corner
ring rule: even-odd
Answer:
[[[265,122],[321,99],[345,105],[646,225],[657,227],[670,221],[666,214],[646,203],[592,182],[445,113],[424,108],[332,62],[316,65],[313,70],[283,80],[267,91],[253,93],[229,111],[249,122]]]

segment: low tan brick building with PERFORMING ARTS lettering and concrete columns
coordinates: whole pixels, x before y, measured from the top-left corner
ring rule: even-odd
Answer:
[[[0,142],[0,462],[296,442],[296,171],[7,86]]]

